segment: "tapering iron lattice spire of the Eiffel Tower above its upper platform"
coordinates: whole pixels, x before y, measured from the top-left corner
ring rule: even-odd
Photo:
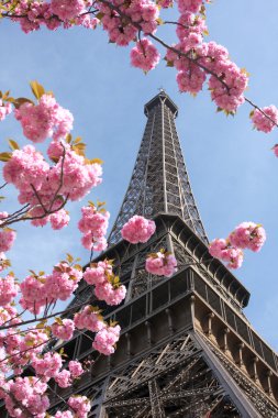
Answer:
[[[121,229],[133,215],[152,218],[166,212],[181,217],[208,243],[175,125],[178,108],[162,91],[145,105],[145,114],[143,141],[109,241],[115,244],[121,240]]]

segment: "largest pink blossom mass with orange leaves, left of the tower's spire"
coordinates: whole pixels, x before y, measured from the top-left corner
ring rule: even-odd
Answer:
[[[25,6],[32,7],[30,2]],[[66,2],[64,8],[67,7]],[[0,160],[4,162],[2,174],[5,183],[18,189],[19,202],[27,208],[23,212],[19,211],[22,220],[30,220],[34,227],[44,227],[49,222],[54,230],[59,230],[70,220],[64,208],[67,200],[80,200],[102,182],[101,161],[86,158],[86,145],[80,142],[80,138],[71,143],[69,132],[74,118],[57,103],[53,94],[46,92],[37,81],[32,81],[31,88],[37,105],[26,98],[14,99],[9,96],[9,91],[0,92],[0,114],[3,114],[3,109],[10,112],[13,105],[15,119],[29,140],[38,143],[49,138],[52,141],[47,146],[47,155],[52,163],[34,145],[20,148],[15,141],[9,140],[12,152],[1,153]],[[7,252],[16,235],[15,231],[8,228],[14,219],[13,215],[7,212],[0,212],[0,252]],[[105,248],[105,240],[100,238],[99,241],[94,243],[98,251]],[[89,233],[85,242],[87,246],[91,244]]]

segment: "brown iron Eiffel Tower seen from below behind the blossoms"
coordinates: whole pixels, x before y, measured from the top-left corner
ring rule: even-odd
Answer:
[[[127,287],[125,301],[105,310],[105,320],[121,324],[121,338],[111,356],[92,350],[90,332],[56,344],[69,359],[94,363],[73,387],[53,384],[52,413],[75,393],[91,399],[94,418],[277,418],[278,358],[243,314],[248,290],[208,252],[175,127],[178,108],[160,90],[144,112],[143,141],[110,245],[96,258],[113,258]],[[145,244],[121,239],[135,213],[156,222]],[[160,248],[178,261],[170,278],[144,268],[146,255]],[[93,294],[84,282],[70,306],[86,300],[93,304]]]

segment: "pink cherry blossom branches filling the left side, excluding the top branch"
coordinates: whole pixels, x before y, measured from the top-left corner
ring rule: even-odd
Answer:
[[[11,151],[0,154],[5,180],[1,189],[14,187],[20,204],[12,213],[0,212],[0,271],[11,266],[5,255],[16,239],[11,227],[19,222],[44,227],[49,222],[53,230],[60,230],[69,223],[68,201],[84,199],[102,182],[102,162],[89,160],[81,139],[71,138],[73,114],[37,81],[31,82],[31,88],[34,99],[13,98],[10,92],[1,95],[7,116],[14,108],[14,119],[29,143],[20,148],[15,141],[9,140]],[[30,141],[47,143],[46,155]],[[113,273],[113,261],[92,263],[94,252],[107,248],[109,218],[104,202],[89,201],[81,208],[78,229],[90,260],[85,272],[79,260],[67,254],[49,274],[30,271],[29,276],[18,280],[9,272],[0,278],[0,398],[11,417],[45,417],[51,405],[46,395],[48,382],[54,380],[66,388],[85,372],[77,360],[65,364],[63,352],[53,349],[57,339],[68,341],[74,332],[91,331],[94,339],[88,338],[100,355],[110,355],[115,350],[121,327],[107,323],[98,306],[80,302],[53,314],[56,302],[68,300],[82,277],[92,286],[97,300],[115,306],[125,298],[126,288]],[[146,242],[155,229],[154,221],[135,216],[124,226],[122,235],[130,243]],[[169,270],[165,275],[170,275]],[[24,318],[26,311],[31,319]],[[90,410],[85,396],[71,396],[64,402],[68,409],[57,411],[56,418],[85,418]]]

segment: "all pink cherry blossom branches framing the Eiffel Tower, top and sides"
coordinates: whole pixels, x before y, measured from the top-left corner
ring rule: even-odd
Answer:
[[[243,103],[253,110],[254,127],[268,133],[278,125],[275,106],[259,107],[245,96],[248,74],[229,56],[224,46],[205,42],[205,0],[2,0],[0,14],[20,24],[24,33],[37,31],[42,25],[54,31],[85,26],[107,32],[109,42],[119,46],[131,45],[131,64],[147,73],[162,57],[176,70],[181,92],[199,94],[208,82],[211,99],[216,109],[234,116]],[[176,21],[163,20],[167,9],[177,7]],[[159,37],[162,25],[173,25],[177,42],[168,44]],[[164,55],[158,51],[164,51]],[[67,204],[84,199],[102,180],[101,161],[86,156],[86,144],[80,138],[73,139],[74,117],[38,82],[31,84],[34,98],[14,98],[10,91],[0,95],[0,120],[14,116],[27,141],[22,148],[10,140],[11,151],[0,154],[3,163],[4,187],[13,186],[20,208],[13,213],[0,213],[0,271],[10,267],[5,253],[16,238],[13,229],[18,222],[54,230],[69,222]],[[12,113],[12,114],[11,114]],[[40,153],[35,144],[47,142],[47,155]],[[277,146],[274,146],[278,155]],[[80,302],[53,314],[58,300],[67,300],[77,289],[81,278],[93,286],[96,299],[115,306],[124,299],[126,289],[113,273],[113,262],[92,262],[93,253],[107,248],[109,212],[102,202],[91,201],[81,209],[78,223],[81,244],[89,251],[89,266],[82,271],[78,260],[67,254],[51,273],[31,271],[18,282],[9,272],[0,278],[0,398],[11,417],[46,416],[49,397],[48,382],[59,387],[70,386],[85,371],[85,365],[71,360],[65,366],[63,353],[52,349],[53,341],[68,341],[74,332],[94,333],[92,348],[101,355],[110,355],[120,338],[120,324],[107,323],[97,306]],[[155,223],[135,216],[123,227],[122,238],[131,244],[147,242],[155,232]],[[210,245],[212,256],[237,268],[243,262],[243,250],[259,251],[265,242],[265,231],[254,222],[243,222],[226,240],[214,240]],[[158,276],[171,276],[177,262],[167,250],[149,254],[146,271]],[[15,308],[14,300],[19,300]],[[23,319],[23,312],[32,319]],[[68,318],[65,319],[65,316]],[[30,376],[23,371],[32,370]],[[12,374],[12,377],[10,378]],[[85,396],[65,399],[66,411],[57,411],[55,418],[86,418],[90,402]]]

